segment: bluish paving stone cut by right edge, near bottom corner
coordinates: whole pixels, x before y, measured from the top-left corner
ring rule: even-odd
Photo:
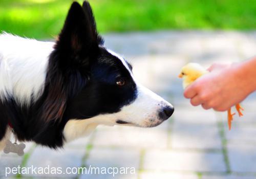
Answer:
[[[227,146],[231,171],[256,173],[256,147],[245,145]]]

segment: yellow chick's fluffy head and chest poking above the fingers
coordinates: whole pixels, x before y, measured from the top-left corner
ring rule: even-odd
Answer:
[[[203,66],[198,63],[188,63],[182,67],[179,78],[183,79],[183,88],[193,83],[200,76],[209,73]]]

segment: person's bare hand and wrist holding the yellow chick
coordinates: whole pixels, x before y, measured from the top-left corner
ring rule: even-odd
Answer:
[[[197,79],[184,92],[184,97],[194,106],[226,111],[256,90],[256,57],[240,63],[216,63],[208,70],[210,73]]]

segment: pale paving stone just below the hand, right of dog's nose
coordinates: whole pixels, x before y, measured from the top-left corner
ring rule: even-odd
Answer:
[[[170,142],[174,148],[221,149],[215,112],[176,107]]]

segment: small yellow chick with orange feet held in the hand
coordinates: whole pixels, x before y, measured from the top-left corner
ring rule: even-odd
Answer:
[[[196,79],[201,77],[204,74],[209,73],[203,66],[198,63],[188,63],[182,67],[181,72],[179,74],[179,78],[183,79],[183,88],[185,89],[189,84],[193,83]],[[240,104],[236,105],[236,109],[238,111],[239,117],[243,116],[242,111],[244,110]],[[235,113],[231,113],[231,108],[227,111],[228,116],[228,128],[231,129],[231,122],[233,120],[233,116]]]

